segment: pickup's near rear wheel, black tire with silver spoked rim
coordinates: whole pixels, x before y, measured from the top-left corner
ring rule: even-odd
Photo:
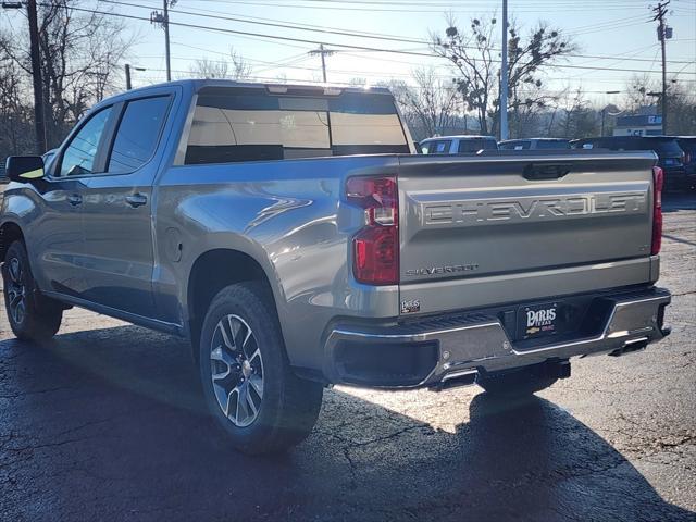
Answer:
[[[225,326],[229,326],[225,330],[228,343],[221,332]],[[234,327],[238,328],[236,334]],[[247,328],[252,332],[250,335]],[[235,348],[228,349],[229,344]],[[293,373],[272,297],[263,285],[252,282],[223,288],[208,309],[199,348],[208,409],[236,449],[249,455],[278,452],[310,434],[321,409],[323,386]],[[217,375],[215,384],[213,371]],[[259,377],[262,395],[252,386]],[[243,396],[247,400],[241,400]],[[243,413],[248,415],[243,419]],[[252,414],[256,418],[244,425]]]

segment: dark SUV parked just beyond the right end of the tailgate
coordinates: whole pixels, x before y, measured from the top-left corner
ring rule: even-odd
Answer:
[[[651,150],[657,154],[658,165],[664,172],[664,188],[683,189],[688,185],[685,154],[675,138],[670,136],[606,136],[601,138],[576,139],[575,148],[609,150]]]

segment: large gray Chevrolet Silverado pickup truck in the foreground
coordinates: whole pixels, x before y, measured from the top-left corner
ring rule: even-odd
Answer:
[[[334,383],[519,396],[668,335],[654,153],[412,152],[382,89],[104,100],[7,162],[10,326],[45,340],[76,306],[190,339],[247,452],[304,438]]]

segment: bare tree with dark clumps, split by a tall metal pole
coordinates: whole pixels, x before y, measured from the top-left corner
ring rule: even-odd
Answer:
[[[500,82],[497,21],[495,17],[489,21],[472,18],[468,30],[459,29],[451,16],[447,24],[444,37],[433,35],[433,51],[451,63],[465,109],[476,114],[481,132],[495,134]],[[545,108],[552,99],[543,91],[544,73],[572,52],[574,45],[539,22],[524,39],[514,23],[510,24],[508,47],[508,110],[513,112],[513,123],[520,123],[523,115]]]

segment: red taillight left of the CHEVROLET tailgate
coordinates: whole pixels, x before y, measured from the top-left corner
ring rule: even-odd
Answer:
[[[365,211],[365,226],[352,239],[352,273],[368,285],[399,282],[399,196],[396,177],[351,177],[348,202]]]

